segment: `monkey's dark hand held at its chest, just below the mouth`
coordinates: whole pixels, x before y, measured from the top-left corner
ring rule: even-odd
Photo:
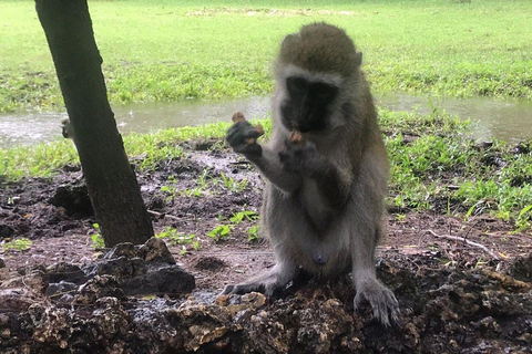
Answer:
[[[319,153],[316,145],[305,142],[303,145],[286,140],[285,149],[279,153],[279,160],[283,169],[293,173],[308,171],[319,160]]]

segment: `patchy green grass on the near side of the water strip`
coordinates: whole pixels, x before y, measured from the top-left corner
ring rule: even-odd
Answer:
[[[389,206],[464,218],[489,212],[513,222],[516,228],[530,228],[532,142],[518,147],[494,142],[490,147],[481,147],[468,137],[468,122],[439,110],[428,115],[381,110],[379,115],[391,165]],[[267,136],[270,122],[264,119],[260,124]],[[228,127],[229,123],[217,123],[131,134],[124,137],[124,145],[139,168],[150,170],[162,160],[182,156],[176,142],[222,139]],[[71,142],[55,142],[0,149],[0,180],[12,181],[23,176],[52,176],[78,158]],[[238,187],[222,177],[213,186],[209,188]],[[177,192],[171,187],[168,181],[168,195]]]

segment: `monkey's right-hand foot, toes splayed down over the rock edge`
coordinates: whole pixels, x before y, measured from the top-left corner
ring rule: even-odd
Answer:
[[[391,323],[399,323],[399,302],[393,292],[382,285],[377,279],[357,287],[357,295],[354,301],[355,310],[359,308],[364,300],[367,300],[374,309],[374,317],[379,320],[385,326],[389,326]]]

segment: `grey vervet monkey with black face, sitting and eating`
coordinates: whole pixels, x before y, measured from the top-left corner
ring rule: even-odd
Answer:
[[[329,278],[350,271],[355,309],[367,300],[385,325],[398,320],[396,296],[376,277],[389,166],[360,64],[344,30],[303,27],[285,38],[275,63],[268,144],[256,142],[246,121],[227,132],[233,149],[266,178],[262,230],[276,264],[224,293],[270,295],[299,269]]]

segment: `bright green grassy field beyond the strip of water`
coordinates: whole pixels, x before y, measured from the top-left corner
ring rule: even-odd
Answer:
[[[268,94],[279,41],[328,21],[374,90],[532,97],[529,0],[89,1],[113,103]],[[62,110],[33,1],[0,0],[0,112]]]

